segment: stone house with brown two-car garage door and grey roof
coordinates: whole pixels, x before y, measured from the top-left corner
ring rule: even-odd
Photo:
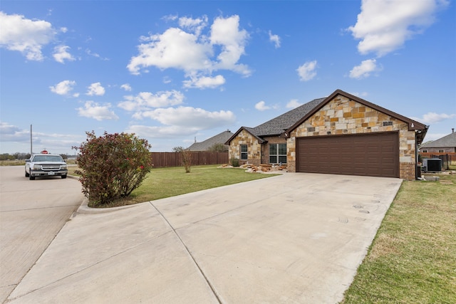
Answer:
[[[289,172],[415,179],[428,126],[336,90],[227,140],[240,163],[286,164]]]

